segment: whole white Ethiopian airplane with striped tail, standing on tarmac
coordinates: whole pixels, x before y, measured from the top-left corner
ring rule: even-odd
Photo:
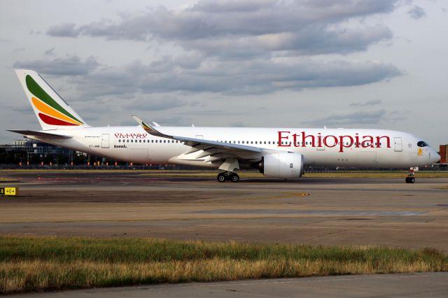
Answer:
[[[414,183],[414,169],[440,160],[419,136],[385,129],[163,127],[137,116],[136,126],[92,127],[36,71],[15,72],[42,129],[10,132],[125,162],[219,169],[219,182],[238,182],[240,169],[295,179],[305,166],[354,166],[409,168]]]

